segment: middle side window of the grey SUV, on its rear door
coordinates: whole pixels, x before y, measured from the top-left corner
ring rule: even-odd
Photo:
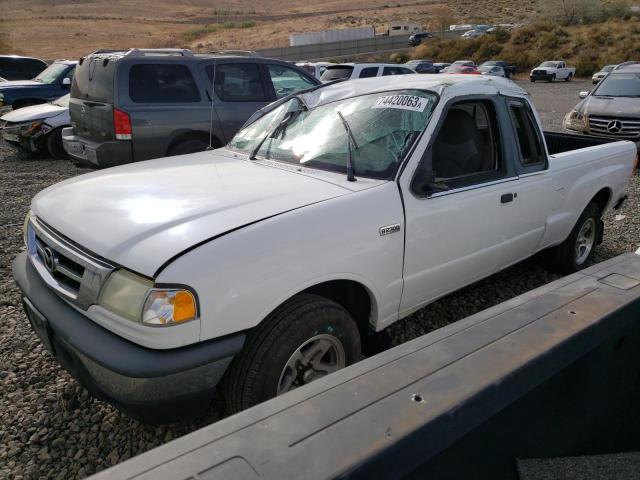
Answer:
[[[209,81],[213,79],[214,66],[207,66]],[[215,66],[214,87],[216,96],[224,102],[265,102],[260,66],[257,63],[219,63]]]

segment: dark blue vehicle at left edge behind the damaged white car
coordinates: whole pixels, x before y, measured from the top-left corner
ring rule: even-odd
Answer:
[[[0,83],[0,107],[8,110],[50,102],[69,93],[75,61],[56,60],[33,80]]]

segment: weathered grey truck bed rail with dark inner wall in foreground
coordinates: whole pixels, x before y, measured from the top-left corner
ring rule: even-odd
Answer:
[[[517,459],[639,448],[639,372],[625,254],[92,478],[517,479]]]

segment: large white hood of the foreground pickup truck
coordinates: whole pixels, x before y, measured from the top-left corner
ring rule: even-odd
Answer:
[[[32,211],[82,248],[151,277],[194,245],[350,192],[235,157],[216,150],[81,175],[40,192]]]

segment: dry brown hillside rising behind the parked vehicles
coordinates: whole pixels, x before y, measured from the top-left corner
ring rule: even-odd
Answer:
[[[10,51],[76,58],[98,48],[185,46],[196,50],[288,45],[291,33],[374,25],[390,20],[433,25],[434,9],[451,22],[519,22],[539,0],[3,0],[0,34]],[[4,49],[3,49],[4,50]]]

